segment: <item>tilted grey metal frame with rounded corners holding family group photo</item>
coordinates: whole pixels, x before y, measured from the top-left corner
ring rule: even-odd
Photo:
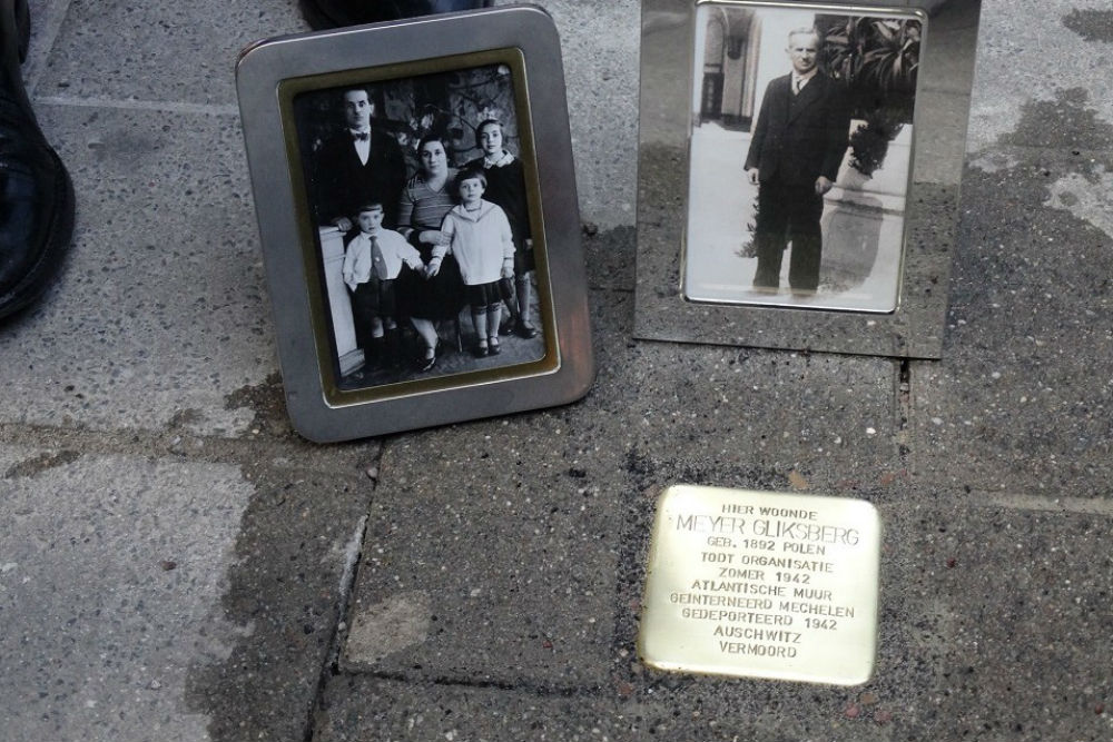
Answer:
[[[237,86],[299,433],[364,437],[587,393],[579,214],[548,14],[504,8],[265,41],[240,56]]]

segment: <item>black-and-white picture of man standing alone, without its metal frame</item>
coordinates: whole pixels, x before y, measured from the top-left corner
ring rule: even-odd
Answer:
[[[923,20],[697,10],[683,294],[896,310]]]

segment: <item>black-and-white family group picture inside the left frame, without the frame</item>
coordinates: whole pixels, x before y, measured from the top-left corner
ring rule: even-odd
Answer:
[[[506,65],[295,98],[341,389],[544,357],[516,110]]]

